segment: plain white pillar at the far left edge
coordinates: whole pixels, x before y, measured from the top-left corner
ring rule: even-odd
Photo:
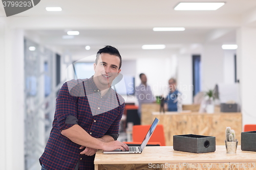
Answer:
[[[2,34],[1,32],[0,34]],[[0,35],[2,38],[2,36]],[[0,38],[0,39],[1,39]],[[3,42],[2,40],[0,40]],[[0,43],[1,43],[0,42]],[[0,48],[3,48],[0,45]],[[2,52],[1,52],[2,53]],[[2,68],[2,65],[4,67]],[[1,101],[4,100],[4,134],[1,152],[5,154],[6,170],[24,169],[24,33],[22,30],[5,28],[4,55],[1,57]],[[3,91],[2,91],[3,90]],[[3,92],[3,93],[2,93]],[[1,102],[2,104],[2,102]],[[2,108],[2,107],[1,107]],[[2,111],[1,111],[2,112]],[[3,114],[3,113],[1,113]],[[1,116],[2,119],[2,116]],[[3,124],[3,123],[1,123]],[[2,136],[1,136],[2,139]],[[0,141],[2,142],[2,140]],[[4,147],[3,147],[4,146]],[[2,149],[2,147],[4,149]],[[2,154],[1,154],[2,157]],[[2,160],[1,160],[2,161]],[[2,163],[1,163],[2,169]]]

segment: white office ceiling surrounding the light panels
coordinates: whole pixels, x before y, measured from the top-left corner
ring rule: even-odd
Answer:
[[[226,0],[216,11],[175,11],[179,2],[182,1],[42,0],[28,11],[0,17],[0,22],[10,28],[25,29],[28,35],[38,35],[40,43],[69,50],[75,56],[91,55],[103,45],[114,45],[130,53],[126,59],[132,59],[132,52],[140,56],[152,53],[143,51],[143,44],[166,44],[162,51],[180,53],[196,44],[236,43],[237,28],[256,26],[255,0]],[[62,11],[47,12],[46,7],[61,7]],[[186,30],[153,32],[154,27],[185,27]],[[68,30],[77,30],[80,34],[63,40],[62,35],[67,35]],[[86,45],[91,46],[90,51],[84,49]]]

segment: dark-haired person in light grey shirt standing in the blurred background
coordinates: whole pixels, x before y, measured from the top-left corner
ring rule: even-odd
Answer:
[[[138,109],[138,115],[141,117],[141,105],[143,103],[153,103],[155,102],[155,97],[152,94],[151,87],[147,85],[147,78],[146,75],[141,73],[140,74],[140,80],[141,83],[139,86],[135,87],[135,94],[139,102],[139,109]]]

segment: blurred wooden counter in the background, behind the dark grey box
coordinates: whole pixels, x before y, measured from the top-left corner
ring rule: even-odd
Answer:
[[[164,127],[166,145],[173,145],[173,135],[197,134],[215,136],[216,145],[224,145],[226,127],[236,132],[238,144],[241,144],[241,113],[177,113],[153,112],[152,120],[157,117]]]

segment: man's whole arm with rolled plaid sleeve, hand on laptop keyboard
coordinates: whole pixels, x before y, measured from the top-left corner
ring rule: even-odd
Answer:
[[[72,85],[77,82],[69,82]],[[77,95],[70,95],[69,91],[80,92],[80,86],[74,86],[69,90],[68,83],[63,84],[58,97],[56,99],[56,112],[55,116],[58,123],[58,128],[63,136],[68,137],[71,141],[88,148],[101,149],[101,150],[115,150],[128,149],[125,143],[119,141],[103,142],[91,135],[89,135],[84,129],[82,129],[76,122],[76,110],[77,110]]]

